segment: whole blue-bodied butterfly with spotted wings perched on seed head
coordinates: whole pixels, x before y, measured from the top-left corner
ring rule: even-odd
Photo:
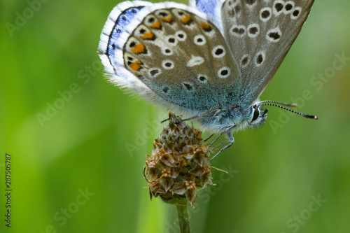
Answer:
[[[313,3],[192,0],[186,6],[124,1],[113,8],[102,30],[99,57],[111,83],[219,134],[209,147],[227,136],[216,157],[235,142],[232,132],[265,122],[268,108],[262,106],[292,111],[276,104],[295,104],[259,97]]]

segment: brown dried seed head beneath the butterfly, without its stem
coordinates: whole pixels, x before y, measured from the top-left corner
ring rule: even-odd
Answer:
[[[169,203],[195,203],[197,191],[211,183],[211,166],[202,132],[169,113],[169,125],[153,142],[146,159],[144,176],[150,195]]]

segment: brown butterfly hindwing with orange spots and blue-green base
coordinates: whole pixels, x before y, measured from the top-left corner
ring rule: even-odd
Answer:
[[[156,3],[140,10],[114,45],[123,47],[127,71],[157,102],[198,113],[237,96],[241,83],[232,77],[239,76],[238,67],[221,32],[205,17],[182,4]]]

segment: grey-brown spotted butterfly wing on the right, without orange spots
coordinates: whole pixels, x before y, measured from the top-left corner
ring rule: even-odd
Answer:
[[[251,106],[281,65],[314,0],[225,0],[217,10]]]

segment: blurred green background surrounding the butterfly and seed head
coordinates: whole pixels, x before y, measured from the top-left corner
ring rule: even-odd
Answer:
[[[118,1],[29,2],[0,2],[0,232],[178,232],[175,207],[150,202],[143,178],[167,111],[106,83],[97,56]],[[319,120],[271,107],[264,127],[235,134],[212,161],[230,176],[213,171],[193,232],[349,232],[350,60],[337,58],[350,57],[349,9],[317,0],[261,97]]]

